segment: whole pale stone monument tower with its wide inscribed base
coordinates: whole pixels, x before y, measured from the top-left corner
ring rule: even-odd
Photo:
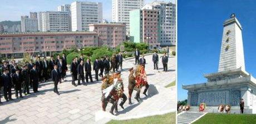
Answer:
[[[198,111],[203,102],[208,112],[231,105],[231,112],[239,113],[240,99],[244,99],[245,113],[256,113],[256,80],[245,71],[242,26],[232,14],[223,27],[218,73],[204,75],[208,82],[183,85],[188,90],[188,104],[191,111]]]

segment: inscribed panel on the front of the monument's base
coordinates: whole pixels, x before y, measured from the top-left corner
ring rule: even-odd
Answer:
[[[198,105],[201,102],[204,102],[207,106],[229,104],[229,91],[200,92],[198,94]]]

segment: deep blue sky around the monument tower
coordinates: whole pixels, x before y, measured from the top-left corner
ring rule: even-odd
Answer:
[[[183,85],[206,82],[218,72],[223,22],[232,13],[242,25],[245,70],[256,77],[256,2],[254,0],[178,0],[178,100]]]

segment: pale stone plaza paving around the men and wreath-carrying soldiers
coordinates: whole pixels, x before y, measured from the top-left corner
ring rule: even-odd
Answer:
[[[151,55],[145,56],[145,59],[147,61],[145,69],[150,84],[149,96],[144,97],[141,93],[143,100],[141,103],[137,103],[133,96],[134,105],[129,106],[128,101],[126,101],[124,110],[119,106],[117,117],[121,119],[127,116],[136,118],[156,115],[161,111],[176,110],[176,87],[164,88],[165,85],[175,80],[175,57],[169,58],[168,72],[163,72],[161,63],[159,63],[159,71],[153,70]],[[126,95],[128,95],[127,77],[129,75],[127,69],[135,66],[134,63],[134,59],[123,62],[121,76],[124,79]],[[92,76],[94,77],[94,75]],[[95,121],[96,112],[101,111],[101,81],[89,83],[87,86],[75,87],[71,85],[69,72],[65,80],[58,85],[60,96],[53,92],[53,82],[49,81],[40,84],[38,89],[40,92],[24,96],[23,99],[6,102],[2,97],[0,123],[105,123],[110,120]],[[151,94],[150,92],[153,90],[154,94]],[[12,97],[15,98],[14,94]],[[106,111],[110,110],[110,106],[111,104],[107,106]],[[145,113],[148,114],[145,115]]]

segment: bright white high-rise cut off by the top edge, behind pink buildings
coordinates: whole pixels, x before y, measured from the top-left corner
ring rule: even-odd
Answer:
[[[112,0],[112,22],[126,23],[126,34],[129,34],[129,11],[140,9],[144,0]]]

